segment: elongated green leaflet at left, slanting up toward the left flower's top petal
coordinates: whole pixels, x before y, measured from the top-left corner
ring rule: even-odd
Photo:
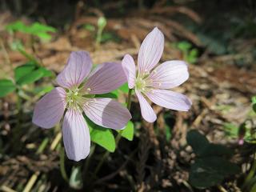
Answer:
[[[19,78],[17,84],[20,86],[23,86],[25,84],[36,82],[38,81],[38,79],[42,78],[43,75],[44,75],[44,70],[42,70],[42,68],[39,68],[38,70],[34,70],[30,74],[26,74],[22,78]]]

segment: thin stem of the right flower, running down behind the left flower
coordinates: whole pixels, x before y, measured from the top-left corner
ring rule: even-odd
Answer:
[[[131,103],[131,93],[132,90],[130,89],[128,92],[128,98],[127,98],[127,109],[130,110],[130,103]],[[120,139],[122,138],[122,130],[120,130],[118,132],[117,137],[115,138],[115,146],[118,147],[118,142],[120,141]],[[106,158],[109,156],[110,152],[106,151],[105,154],[103,154],[102,160],[98,163],[98,166],[96,167],[96,169],[94,170],[94,174],[92,176],[92,179],[95,178],[95,176],[98,174],[98,171],[100,170],[100,168],[102,167],[103,162],[105,162]]]

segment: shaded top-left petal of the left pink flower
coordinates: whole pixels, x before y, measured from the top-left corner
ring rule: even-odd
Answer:
[[[59,86],[71,88],[79,86],[90,73],[92,61],[86,51],[74,51],[62,72],[58,74],[56,81]]]

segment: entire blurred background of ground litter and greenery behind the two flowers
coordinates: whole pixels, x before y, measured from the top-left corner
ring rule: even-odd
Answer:
[[[60,161],[59,126],[34,126],[34,103],[71,51],[89,51],[94,64],[125,54],[136,61],[154,26],[165,35],[161,62],[189,63],[176,90],[191,110],[153,105],[150,124],[133,98],[133,141],[123,138],[96,177],[106,146],[82,162]],[[255,47],[254,0],[1,0],[0,190],[256,191]],[[123,86],[118,100],[126,95]]]

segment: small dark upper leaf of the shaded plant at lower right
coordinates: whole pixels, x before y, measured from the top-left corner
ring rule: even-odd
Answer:
[[[198,130],[190,130],[186,135],[186,142],[192,146],[194,153],[197,155],[201,155],[206,146],[209,145],[207,138],[200,134]]]

